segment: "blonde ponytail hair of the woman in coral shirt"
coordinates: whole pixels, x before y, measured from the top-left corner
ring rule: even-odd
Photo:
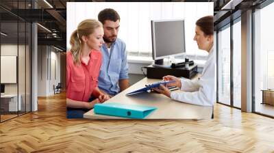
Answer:
[[[98,20],[86,19],[79,23],[77,29],[71,34],[71,54],[75,64],[81,63],[82,36],[89,36],[98,27],[103,27]]]

